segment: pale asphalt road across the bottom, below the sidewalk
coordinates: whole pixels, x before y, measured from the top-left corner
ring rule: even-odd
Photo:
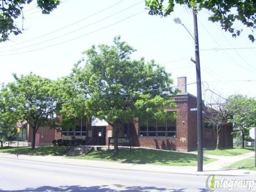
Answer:
[[[0,191],[207,191],[206,176],[0,158]]]

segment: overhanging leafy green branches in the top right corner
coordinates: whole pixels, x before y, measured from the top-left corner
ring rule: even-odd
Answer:
[[[239,36],[242,28],[236,29],[235,22],[240,22],[251,30],[249,39],[254,42],[256,29],[256,2],[254,0],[145,0],[150,15],[167,17],[174,10],[175,4],[186,5],[198,12],[205,9],[212,14],[209,20],[220,22],[223,30],[229,31],[233,37]]]

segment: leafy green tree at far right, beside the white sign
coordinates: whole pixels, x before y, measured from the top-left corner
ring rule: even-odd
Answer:
[[[256,125],[256,100],[241,94],[231,95],[227,100],[229,122],[234,125],[234,135],[242,138],[244,148],[245,139],[250,139],[249,130]]]

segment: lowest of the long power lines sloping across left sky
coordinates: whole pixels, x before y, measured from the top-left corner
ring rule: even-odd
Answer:
[[[90,33],[87,33],[87,34],[85,34],[85,35],[81,35],[81,36],[78,36],[78,37],[75,37],[75,38],[72,38],[72,39],[68,39],[67,41],[64,41],[64,42],[60,42],[60,43],[57,43],[57,44],[53,44],[53,45],[41,47],[41,48],[34,49],[34,50],[23,51],[23,52],[19,52],[19,53],[0,54],[0,55],[1,55],[1,56],[6,56],[6,55],[23,54],[23,53],[28,53],[28,52],[43,50],[43,49],[47,49],[47,48],[50,48],[50,47],[53,47],[53,46],[61,45],[61,44],[64,44],[64,43],[67,43],[67,42],[70,42],[70,41],[74,41],[75,39],[82,38],[82,37],[85,37],[85,36],[87,36],[87,35],[96,33],[96,32],[98,32],[98,31],[103,30],[103,29],[106,29],[106,28],[108,28],[108,27],[114,26],[114,25],[116,25],[117,23],[120,23],[120,22],[123,22],[123,21],[125,21],[125,20],[127,20],[127,19],[130,19],[130,18],[134,17],[135,15],[138,15],[138,14],[140,14],[140,13],[142,13],[142,12],[145,12],[145,10],[140,11],[140,12],[135,13],[135,14],[132,14],[131,16],[129,16],[129,17],[127,17],[127,18],[124,18],[124,19],[119,20],[119,21],[117,21],[117,22],[114,22],[114,23],[112,23],[112,24],[110,24],[110,25],[108,25],[108,26],[105,26],[105,27],[99,28],[99,29],[97,29],[97,30],[94,30],[94,31],[92,31],[92,32],[90,32]]]

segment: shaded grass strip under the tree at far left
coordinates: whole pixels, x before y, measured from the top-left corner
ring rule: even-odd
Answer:
[[[22,155],[54,155],[54,156],[62,156],[67,153],[70,147],[36,147],[34,150],[31,147],[19,147],[19,154]],[[17,154],[17,147],[13,148],[0,148],[0,153],[9,153],[9,154]]]

